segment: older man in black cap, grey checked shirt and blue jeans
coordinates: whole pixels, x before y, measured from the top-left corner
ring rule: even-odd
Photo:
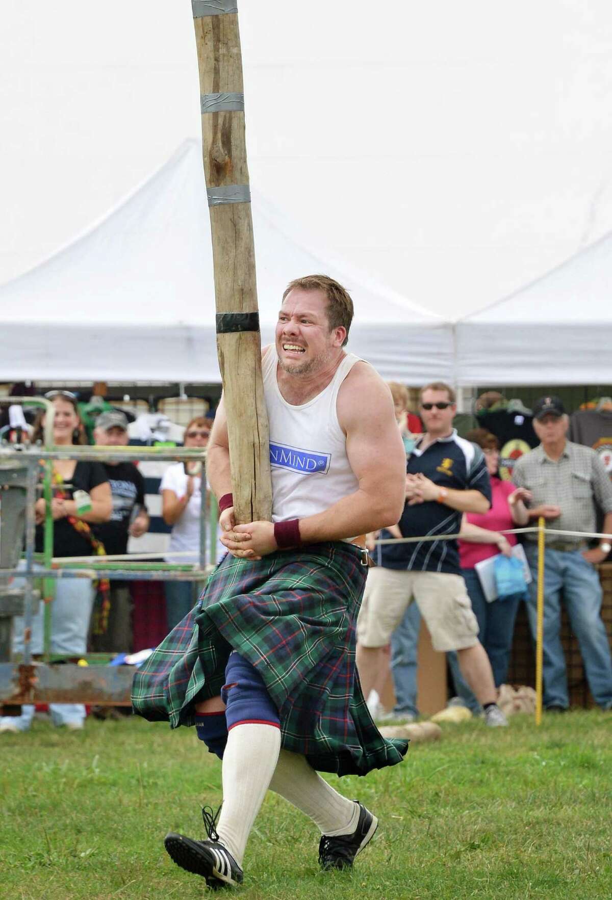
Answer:
[[[603,530],[612,534],[612,482],[599,455],[565,437],[568,417],[558,397],[542,397],[534,406],[534,428],[542,442],[514,467],[513,481],[533,494],[529,517],[547,520],[544,597],[544,705],[552,712],[569,706],[561,645],[561,597],[581,647],[590,692],[602,709],[612,708],[612,659],[601,620],[602,592],[597,563],[603,563],[612,538],[588,549],[586,538],[555,536],[557,531],[596,531],[596,504],[604,513]],[[537,536],[528,535],[527,558],[536,576]],[[536,636],[536,577],[527,603]]]

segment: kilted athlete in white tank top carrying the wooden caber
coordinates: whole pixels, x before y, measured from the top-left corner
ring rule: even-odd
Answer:
[[[379,734],[356,678],[367,570],[355,536],[399,520],[406,461],[389,389],[344,350],[352,318],[350,297],[327,276],[288,286],[262,365],[273,522],[235,523],[220,408],[207,473],[229,554],[134,681],[136,712],[196,725],[222,759],[219,821],[203,811],[209,840],[165,841],[211,887],[242,881],[268,788],[319,826],[323,869],[352,866],[377,819],[317,770],[365,775],[407,749]]]

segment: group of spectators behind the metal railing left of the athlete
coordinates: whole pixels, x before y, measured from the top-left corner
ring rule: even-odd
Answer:
[[[55,446],[86,445],[87,429],[76,395],[51,391],[46,399],[53,404]],[[9,421],[5,440],[43,443],[46,417],[40,411],[30,424],[23,415]],[[95,446],[123,447],[130,443],[129,422],[121,410],[103,410],[91,423]],[[184,428],[184,446],[205,448],[211,420],[198,416]],[[195,461],[194,461],[195,462]],[[200,559],[200,517],[202,509],[202,465],[176,463],[166,468],[160,484],[162,517],[171,527],[166,562],[196,564]],[[39,498],[36,501],[35,552],[42,554],[45,542],[47,502],[42,496],[43,470],[40,468]],[[148,532],[150,518],[145,502],[145,479],[139,466],[131,462],[87,462],[57,459],[52,469],[53,549],[56,558],[104,557],[119,560],[128,554],[130,537]],[[180,553],[175,559],[172,554]],[[151,584],[152,582],[148,582]],[[50,606],[49,653],[76,662],[85,653],[130,653],[133,649],[134,582],[99,579],[58,579]],[[16,579],[14,587],[23,586]],[[177,590],[178,589],[178,590]],[[166,612],[159,639],[193,607],[197,584],[193,581],[166,581]],[[43,652],[44,608],[40,604],[31,629],[31,651]],[[23,619],[14,619],[14,653],[23,652]],[[69,730],[83,728],[82,704],[51,704],[49,715],[55,725]],[[0,717],[0,732],[25,731],[31,725],[34,707],[23,706],[21,716]]]

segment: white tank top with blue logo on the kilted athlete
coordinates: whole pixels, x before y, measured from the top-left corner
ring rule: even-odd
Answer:
[[[314,516],[358,489],[336,409],[340,385],[358,362],[358,356],[347,354],[323,391],[293,406],[279,390],[276,347],[269,347],[262,371],[270,424],[273,522]]]

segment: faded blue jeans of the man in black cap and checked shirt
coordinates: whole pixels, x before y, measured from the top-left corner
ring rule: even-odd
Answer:
[[[527,544],[527,560],[534,581],[527,602],[529,627],[536,640],[537,547]],[[565,657],[561,644],[561,598],[570,617],[572,632],[581,648],[582,664],[590,692],[600,707],[612,707],[612,655],[601,621],[602,591],[597,570],[580,550],[545,549],[544,577],[544,705],[568,707]]]

